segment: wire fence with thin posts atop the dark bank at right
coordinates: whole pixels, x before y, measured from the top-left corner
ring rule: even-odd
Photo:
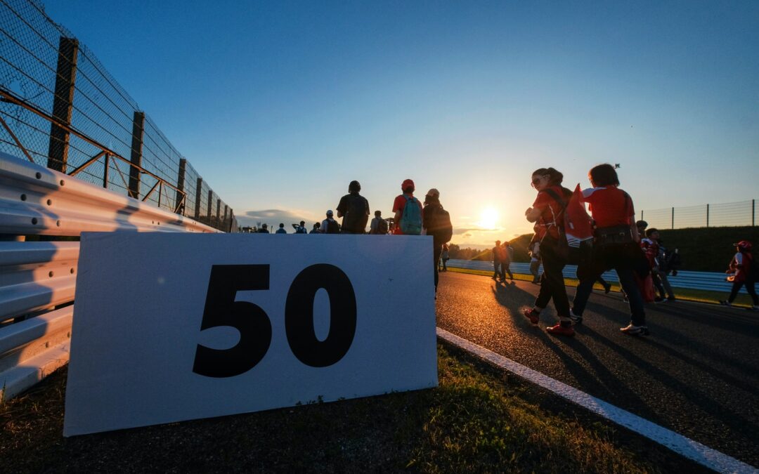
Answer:
[[[729,227],[756,225],[756,199],[701,206],[670,207],[641,211],[648,227],[682,229],[693,227]]]

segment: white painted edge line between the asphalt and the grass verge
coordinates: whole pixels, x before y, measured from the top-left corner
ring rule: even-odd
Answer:
[[[546,390],[550,390],[573,403],[577,403],[581,407],[591,410],[591,412],[603,416],[603,418],[609,419],[618,425],[622,425],[640,435],[644,435],[652,441],[663,444],[677,454],[681,454],[682,456],[694,460],[699,464],[703,464],[710,469],[714,469],[717,472],[759,472],[759,469],[749,466],[734,457],[722,454],[720,451],[704,446],[704,444],[701,444],[698,441],[685,438],[685,436],[679,435],[663,426],[615,407],[611,403],[606,403],[596,397],[591,397],[591,395],[588,395],[583,391],[579,391],[578,389],[572,388],[558,380],[554,380],[547,375],[543,375],[536,370],[525,367],[520,363],[516,363],[512,359],[507,359],[493,351],[471,343],[462,337],[449,333],[445,329],[437,328],[437,336],[455,346],[461,347],[461,349],[473,353],[475,356],[480,357],[480,359],[485,359],[509,372],[514,372],[516,375],[526,378],[528,381],[540,385],[540,387],[546,388]]]

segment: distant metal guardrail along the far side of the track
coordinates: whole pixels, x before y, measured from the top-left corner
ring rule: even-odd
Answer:
[[[482,262],[476,260],[454,260],[448,261],[447,265],[453,268],[468,268],[470,270],[483,270],[493,272],[493,262]],[[530,264],[513,262],[509,269],[519,275],[531,275]],[[543,272],[543,266],[540,266],[540,272]],[[577,265],[566,265],[564,267],[564,278],[577,278]],[[606,281],[619,282],[616,272],[604,272],[603,279]],[[669,284],[674,288],[685,288],[689,290],[711,290],[729,293],[732,283],[725,281],[725,274],[719,272],[677,272],[677,276],[667,277]],[[741,289],[746,293],[745,288]]]

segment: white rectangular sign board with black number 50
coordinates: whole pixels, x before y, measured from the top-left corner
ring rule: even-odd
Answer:
[[[64,435],[437,385],[432,237],[83,234]]]

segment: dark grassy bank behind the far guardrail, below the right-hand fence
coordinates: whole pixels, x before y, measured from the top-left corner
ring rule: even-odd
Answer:
[[[759,227],[718,227],[660,229],[662,243],[667,248],[678,248],[682,258],[681,270],[693,272],[724,272],[735,254],[732,243],[749,240],[759,245]],[[515,262],[529,262],[527,246],[532,234],[509,240],[514,247]],[[754,250],[754,255],[756,255]],[[472,260],[491,260],[491,251],[483,250]]]

